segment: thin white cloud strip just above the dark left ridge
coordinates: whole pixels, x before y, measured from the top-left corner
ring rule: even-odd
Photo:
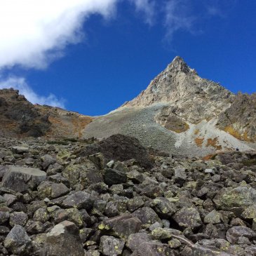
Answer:
[[[9,77],[8,79],[0,80],[0,89],[3,88],[15,88],[19,90],[20,94],[25,95],[27,100],[33,104],[37,103],[40,105],[65,108],[63,99],[58,99],[58,97],[53,94],[47,97],[38,95],[22,77]]]

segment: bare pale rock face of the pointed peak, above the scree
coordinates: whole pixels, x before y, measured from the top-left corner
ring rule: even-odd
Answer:
[[[146,90],[124,107],[146,107],[157,102],[166,102],[156,116],[164,127],[184,132],[189,123],[199,123],[217,117],[230,107],[234,95],[218,83],[201,79],[180,57],[151,81]]]

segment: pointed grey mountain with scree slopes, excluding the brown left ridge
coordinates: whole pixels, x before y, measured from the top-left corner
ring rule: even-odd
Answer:
[[[246,151],[255,148],[255,111],[255,95],[234,95],[176,57],[135,99],[95,118],[84,135],[123,133],[185,155]]]

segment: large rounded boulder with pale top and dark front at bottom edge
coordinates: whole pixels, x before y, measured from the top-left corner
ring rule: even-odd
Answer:
[[[79,229],[73,222],[61,222],[46,235],[46,243],[40,256],[84,256]]]

